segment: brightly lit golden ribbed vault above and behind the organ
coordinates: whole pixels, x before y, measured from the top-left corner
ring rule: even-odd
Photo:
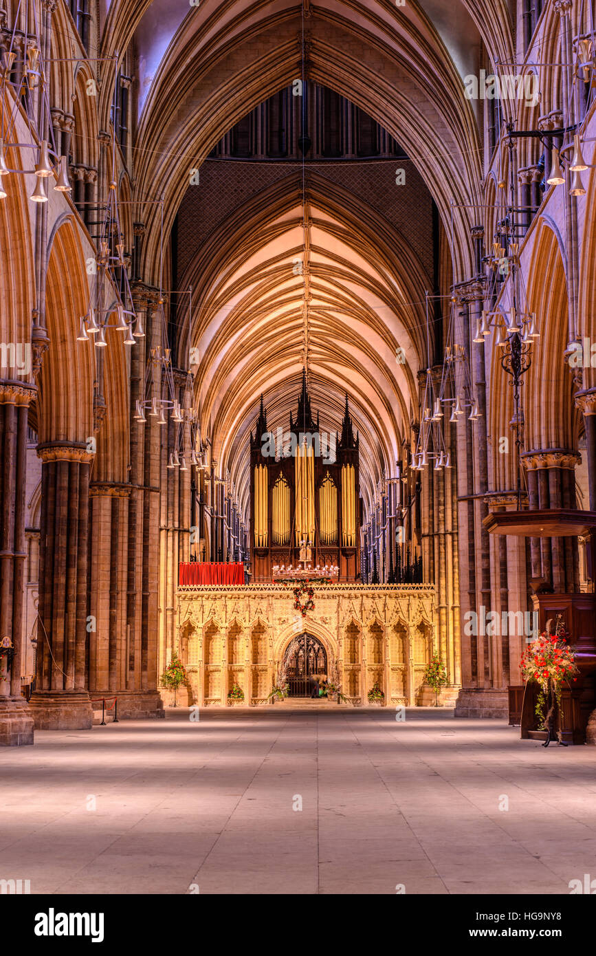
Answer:
[[[246,516],[248,433],[260,396],[269,427],[287,429],[306,336],[313,408],[323,430],[341,430],[348,393],[370,504],[381,471],[394,473],[417,407],[416,371],[427,355],[420,290],[430,281],[405,236],[313,173],[306,205],[292,171],[213,233],[181,288],[192,285],[201,303],[190,344],[204,437]],[[181,356],[187,347],[185,335]]]

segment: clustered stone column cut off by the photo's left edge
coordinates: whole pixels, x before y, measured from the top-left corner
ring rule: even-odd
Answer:
[[[0,651],[8,651],[0,657],[0,746],[33,743],[31,710],[21,697],[21,654],[27,420],[34,395],[32,385],[0,382]]]

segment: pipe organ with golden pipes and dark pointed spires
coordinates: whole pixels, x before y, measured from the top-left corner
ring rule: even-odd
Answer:
[[[339,580],[360,577],[358,437],[348,397],[341,435],[322,432],[312,418],[306,374],[289,431],[267,429],[261,409],[250,436],[252,580],[268,581],[275,565],[337,565]]]

